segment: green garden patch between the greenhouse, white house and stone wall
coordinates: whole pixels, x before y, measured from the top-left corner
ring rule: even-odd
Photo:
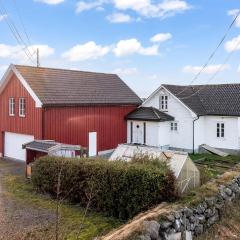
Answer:
[[[201,183],[216,178],[227,170],[240,163],[240,156],[229,155],[220,157],[214,154],[191,154],[191,159],[195,162],[201,172]]]

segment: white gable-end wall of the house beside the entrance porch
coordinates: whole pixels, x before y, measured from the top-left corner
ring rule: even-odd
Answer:
[[[193,145],[193,119],[196,115],[188,110],[175,97],[170,95],[165,89],[161,89],[155,96],[144,103],[144,107],[155,107],[159,109],[159,97],[164,94],[168,95],[168,111],[167,114],[173,116],[178,122],[178,131],[170,131],[170,122],[168,124],[168,135],[170,146],[174,148],[192,149]],[[167,131],[165,131],[167,134]]]

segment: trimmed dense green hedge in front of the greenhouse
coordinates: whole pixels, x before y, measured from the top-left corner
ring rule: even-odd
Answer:
[[[59,178],[59,176],[61,176]],[[175,197],[175,177],[169,168],[109,162],[101,159],[43,157],[33,166],[32,182],[43,193],[109,216],[128,219]]]

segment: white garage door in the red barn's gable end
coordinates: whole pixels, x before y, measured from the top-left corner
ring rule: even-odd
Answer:
[[[5,132],[4,155],[18,160],[26,160],[26,150],[22,145],[34,140],[34,136]]]

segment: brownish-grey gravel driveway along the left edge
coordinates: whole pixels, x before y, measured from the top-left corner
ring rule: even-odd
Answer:
[[[31,232],[43,229],[54,220],[52,212],[20,203],[4,188],[6,175],[24,176],[24,169],[21,162],[0,159],[0,239],[36,239],[31,237]]]

